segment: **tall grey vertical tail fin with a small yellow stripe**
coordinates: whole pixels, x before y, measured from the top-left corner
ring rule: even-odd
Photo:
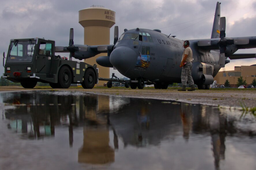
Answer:
[[[211,38],[220,38],[221,3],[217,2]]]

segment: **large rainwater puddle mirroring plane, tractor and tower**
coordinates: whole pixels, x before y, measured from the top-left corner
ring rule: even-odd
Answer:
[[[239,110],[57,91],[0,93],[0,169],[256,169]]]

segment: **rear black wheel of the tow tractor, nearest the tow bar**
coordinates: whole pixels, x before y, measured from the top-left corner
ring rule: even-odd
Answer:
[[[96,82],[95,79],[96,79],[96,75],[94,70],[92,70],[91,68],[88,68],[85,71],[84,81],[81,83],[82,87],[84,89],[92,89]]]

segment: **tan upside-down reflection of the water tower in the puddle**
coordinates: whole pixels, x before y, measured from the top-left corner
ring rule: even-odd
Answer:
[[[87,101],[87,100],[90,100]],[[93,104],[92,104],[93,103]],[[109,146],[109,128],[102,111],[109,111],[109,96],[91,96],[85,98],[85,118],[94,127],[84,127],[83,146],[78,152],[79,163],[105,164],[115,161],[115,151]]]

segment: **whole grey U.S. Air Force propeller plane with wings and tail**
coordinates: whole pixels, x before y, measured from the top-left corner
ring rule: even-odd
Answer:
[[[188,40],[193,51],[192,77],[198,89],[209,89],[218,71],[232,59],[255,58],[255,54],[234,54],[238,49],[256,47],[256,37],[225,37],[226,19],[220,16],[217,2],[210,39]],[[156,89],[167,89],[171,83],[181,82],[180,62],[184,40],[162,34],[160,30],[136,28],[124,30],[118,39],[115,26],[113,45],[74,45],[73,30],[70,30],[68,47],[56,47],[56,52],[70,52],[70,57],[79,60],[100,53],[96,62],[105,67],[114,67],[130,78],[125,87],[143,89],[154,84]],[[109,83],[109,82],[108,82]],[[112,83],[112,82],[110,82]]]

